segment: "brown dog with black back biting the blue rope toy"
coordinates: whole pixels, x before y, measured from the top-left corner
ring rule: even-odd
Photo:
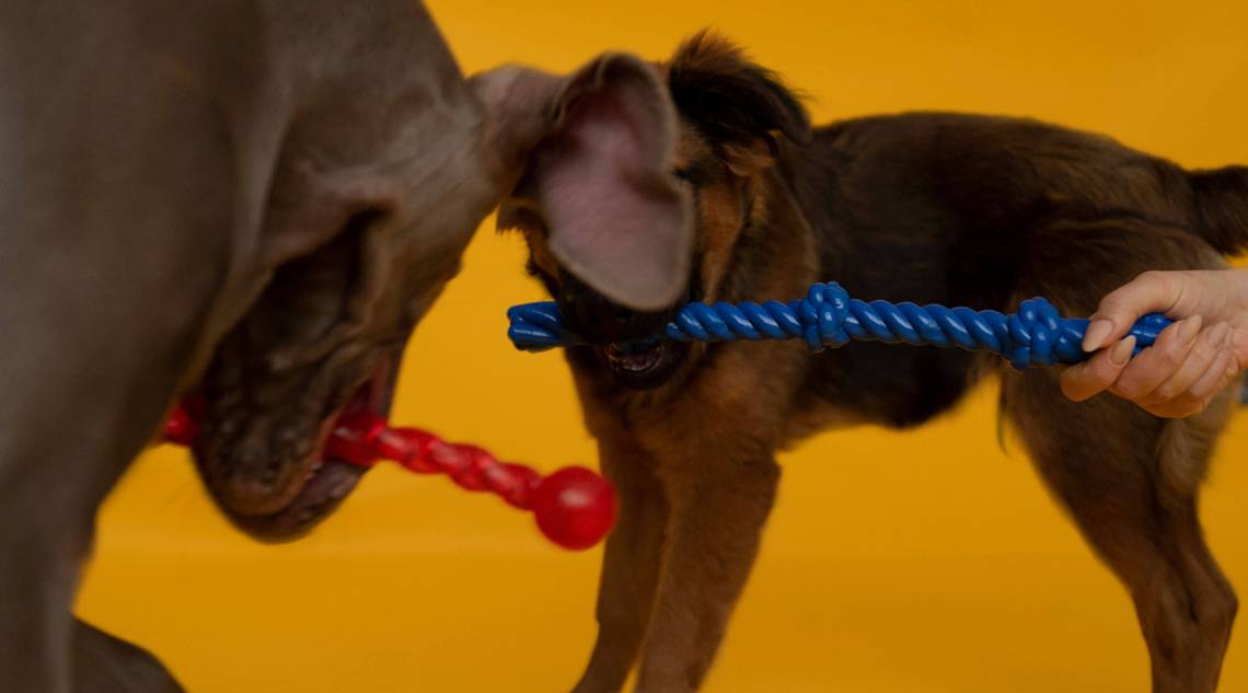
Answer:
[[[1010,311],[1046,296],[1087,315],[1149,268],[1222,267],[1248,245],[1248,170],[1188,172],[1106,137],[1027,120],[911,114],[811,130],[794,95],[699,35],[660,66],[683,119],[678,176],[696,200],[689,297],[800,297],[835,280],[861,298]],[[530,271],[599,347],[568,361],[603,469],[622,492],[577,691],[694,691],[724,634],[771,509],[775,452],[849,423],[917,426],[981,377],[1041,476],[1129,591],[1158,693],[1209,693],[1236,596],[1202,538],[1197,487],[1228,413],[1153,418],[1062,397],[1057,371],[997,357],[851,343],[644,341],[670,317],[570,277],[547,226],[504,207]],[[640,341],[639,341],[640,340]]]

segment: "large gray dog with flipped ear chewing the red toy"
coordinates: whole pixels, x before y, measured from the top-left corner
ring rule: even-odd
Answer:
[[[641,310],[688,276],[654,69],[466,80],[408,0],[0,4],[0,691],[166,691],[70,613],[96,509],[187,393],[226,514],[302,534],[412,328],[513,195]]]

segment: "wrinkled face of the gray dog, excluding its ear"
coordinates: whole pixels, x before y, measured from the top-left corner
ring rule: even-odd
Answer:
[[[419,225],[351,219],[278,267],[222,341],[200,386],[208,416],[196,458],[238,527],[298,537],[356,486],[363,467],[321,456],[329,425],[344,410],[388,412],[407,338],[489,209],[484,189],[473,195],[463,212],[421,210]]]

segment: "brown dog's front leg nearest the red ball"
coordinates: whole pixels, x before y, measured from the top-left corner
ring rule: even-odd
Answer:
[[[624,687],[650,619],[668,522],[654,460],[626,440],[603,440],[599,447],[603,473],[619,493],[620,514],[603,556],[598,642],[575,693],[614,693]]]

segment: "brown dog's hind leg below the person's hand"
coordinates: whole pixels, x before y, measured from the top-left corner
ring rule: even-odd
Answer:
[[[1083,536],[1136,603],[1154,693],[1212,693],[1237,601],[1202,536],[1197,484],[1228,406],[1149,417],[1111,396],[1082,405],[1056,373],[1006,377],[1008,415]]]

